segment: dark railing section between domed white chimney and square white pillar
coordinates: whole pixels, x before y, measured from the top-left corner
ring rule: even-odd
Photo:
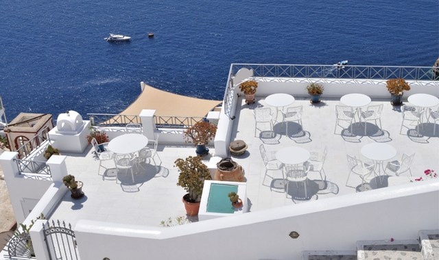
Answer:
[[[94,127],[125,127],[128,124],[141,124],[140,116],[119,114],[87,114]]]

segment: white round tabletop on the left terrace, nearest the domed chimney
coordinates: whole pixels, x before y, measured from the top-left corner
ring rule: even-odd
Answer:
[[[130,154],[140,151],[147,146],[148,138],[140,133],[119,135],[108,143],[108,149],[113,153]]]

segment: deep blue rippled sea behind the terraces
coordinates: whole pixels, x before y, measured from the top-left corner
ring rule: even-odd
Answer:
[[[222,99],[231,63],[432,66],[439,57],[438,0],[3,0],[0,20],[8,120],[119,113],[140,81]],[[108,43],[110,32],[132,40]]]

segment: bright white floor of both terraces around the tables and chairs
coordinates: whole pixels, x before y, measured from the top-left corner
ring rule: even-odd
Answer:
[[[246,105],[244,101],[235,114],[235,129],[233,129],[232,140],[244,140],[248,144],[248,151],[242,157],[233,157],[237,163],[243,166],[246,172],[247,196],[249,199],[250,211],[261,211],[273,207],[289,206],[294,207],[300,201],[285,198],[281,189],[270,189],[272,180],[267,177],[263,183],[265,168],[259,145],[263,143],[259,137],[254,137],[254,118],[252,109],[264,106],[264,97],[257,97],[257,103]],[[324,146],[328,148],[327,160],[324,164],[326,172],[326,183],[322,183],[318,173],[309,174],[308,192],[316,194],[313,199],[322,200],[332,196],[342,196],[354,193],[355,186],[361,183],[359,177],[351,175],[346,187],[348,177],[348,165],[346,155],[361,157],[360,148],[365,144],[373,142],[386,142],[396,148],[397,155],[394,159],[400,159],[403,153],[416,153],[412,164],[414,177],[423,175],[427,168],[439,170],[439,127],[436,129],[436,136],[433,135],[433,124],[425,124],[423,136],[408,136],[407,128],[403,134],[399,133],[402,116],[399,107],[392,107],[389,101],[372,101],[370,105],[383,104],[382,126],[383,132],[377,127],[368,125],[368,136],[364,135],[364,127],[355,123],[353,132],[356,136],[340,135],[342,128],[335,127],[335,105],[340,105],[338,100],[322,100],[318,105],[311,105],[309,100],[296,100],[294,105],[303,106],[302,126],[306,136],[299,136],[298,127],[290,124],[291,136],[285,135],[285,127],[281,123],[274,125],[274,131],[278,135],[278,144],[266,144],[270,151],[276,151],[286,146],[300,146],[309,151],[322,151]],[[278,119],[281,117],[279,116]],[[342,122],[342,124],[345,122]],[[347,128],[347,125],[345,126]],[[414,128],[414,127],[411,127]],[[413,133],[414,131],[408,131]],[[259,133],[259,132],[258,132]],[[297,135],[297,137],[294,137]],[[412,134],[414,135],[414,134]],[[264,142],[276,140],[264,140]],[[125,224],[139,224],[148,226],[159,226],[161,220],[184,216],[185,209],[181,198],[185,191],[176,185],[178,171],[174,167],[174,161],[178,158],[185,158],[195,155],[193,146],[158,146],[158,154],[163,164],[157,170],[152,165],[147,165],[143,172],[135,175],[136,183],[133,185],[130,174],[119,174],[119,180],[115,177],[105,177],[102,172],[98,175],[99,161],[93,159],[90,147],[84,155],[71,155],[67,158],[69,174],[74,174],[76,179],[84,182],[84,198],[72,200],[68,192],[58,208],[51,216],[54,220],[65,220],[73,226],[80,219],[101,220],[106,222],[118,222]],[[112,165],[112,161],[107,161]],[[112,174],[112,170],[106,172]],[[281,172],[274,172],[275,179],[282,177]],[[162,176],[163,175],[163,176]],[[408,173],[404,174],[405,176]],[[372,175],[373,177],[373,175]],[[372,187],[381,185],[374,180],[369,180]],[[381,186],[387,185],[384,180]],[[301,186],[299,186],[301,187]],[[296,188],[296,185],[290,185]],[[312,203],[306,202],[306,203]]]

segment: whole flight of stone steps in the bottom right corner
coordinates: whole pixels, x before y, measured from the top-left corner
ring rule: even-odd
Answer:
[[[418,239],[358,241],[357,251],[305,251],[303,260],[439,260],[439,229],[419,231]]]

